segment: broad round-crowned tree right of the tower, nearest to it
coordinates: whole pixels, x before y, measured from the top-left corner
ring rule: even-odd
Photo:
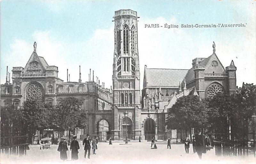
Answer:
[[[183,96],[168,109],[168,129],[204,128],[207,124],[207,105],[198,96]]]

